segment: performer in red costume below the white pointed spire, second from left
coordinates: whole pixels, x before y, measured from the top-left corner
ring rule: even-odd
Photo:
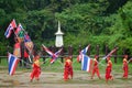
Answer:
[[[65,57],[65,68],[64,68],[64,80],[69,79],[68,76],[73,79],[74,72],[73,72],[73,63],[70,61],[70,57]]]

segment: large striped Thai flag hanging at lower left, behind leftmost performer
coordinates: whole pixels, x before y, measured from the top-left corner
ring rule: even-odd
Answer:
[[[9,53],[8,62],[9,62],[9,75],[13,75],[19,63],[19,58]]]

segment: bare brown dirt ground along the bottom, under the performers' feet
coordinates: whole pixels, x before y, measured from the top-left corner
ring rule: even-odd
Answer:
[[[108,84],[95,76],[90,79],[90,74],[75,72],[74,79],[63,80],[63,73],[42,72],[40,80],[30,82],[29,72],[15,72],[15,75],[9,76],[8,70],[0,70],[0,88],[132,88],[132,76],[129,79],[122,79],[121,74],[114,74],[114,80]]]

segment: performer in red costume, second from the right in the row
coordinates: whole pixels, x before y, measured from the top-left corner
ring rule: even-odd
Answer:
[[[107,82],[109,79],[113,80],[111,72],[112,72],[112,62],[110,61],[110,56],[109,56],[107,57],[107,68],[106,68],[106,81]]]

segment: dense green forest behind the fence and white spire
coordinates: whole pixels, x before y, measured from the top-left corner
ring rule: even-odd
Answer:
[[[102,51],[107,44],[118,46],[119,54],[125,48],[132,55],[132,0],[0,0],[0,55],[7,54],[8,45],[13,47],[13,34],[4,36],[12,19],[38,48],[55,45],[59,20],[66,47],[77,51],[91,44]]]

